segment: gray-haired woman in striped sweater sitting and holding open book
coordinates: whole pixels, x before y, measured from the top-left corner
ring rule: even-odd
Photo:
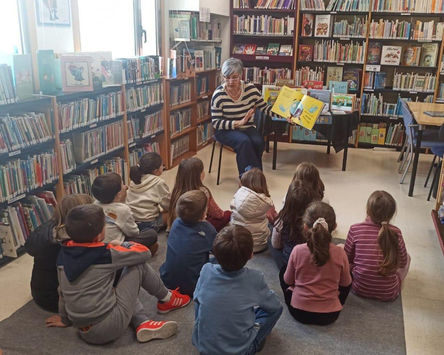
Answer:
[[[229,58],[222,64],[225,82],[211,100],[211,118],[216,140],[233,148],[239,175],[249,165],[262,170],[264,141],[254,123],[255,109],[269,115],[271,106],[263,101],[252,83],[241,80],[244,66],[239,59]]]

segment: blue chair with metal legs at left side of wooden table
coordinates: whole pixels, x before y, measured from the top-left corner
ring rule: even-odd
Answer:
[[[416,137],[418,134],[417,127],[419,127],[418,124],[414,123],[413,114],[410,112],[410,109],[408,108],[406,101],[401,100],[401,107],[403,110],[404,126],[406,127],[407,145],[406,145],[406,152],[399,166],[398,172],[401,173],[403,171],[406,162],[407,165],[405,167],[403,176],[401,177],[401,180],[399,182],[400,184],[404,183],[407,171],[410,167],[411,161],[413,160],[413,151],[414,148],[416,147]],[[444,152],[444,142],[440,140],[437,130],[425,129],[423,131],[421,148],[430,148],[432,149],[432,152],[436,151],[437,153],[440,153],[441,150],[443,150]]]

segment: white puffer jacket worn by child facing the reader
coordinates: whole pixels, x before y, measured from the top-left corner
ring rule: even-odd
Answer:
[[[266,214],[272,206],[273,201],[270,197],[244,186],[237,190],[231,199],[231,224],[248,228],[255,242],[254,252],[264,249],[267,245],[270,230]]]

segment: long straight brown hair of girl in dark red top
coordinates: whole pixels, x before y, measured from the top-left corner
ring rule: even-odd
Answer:
[[[168,212],[168,226],[176,219],[176,204],[185,192],[205,189],[211,197],[210,190],[202,183],[200,178],[204,169],[203,162],[199,158],[188,158],[181,161],[177,169],[176,181],[171,193],[170,210]]]

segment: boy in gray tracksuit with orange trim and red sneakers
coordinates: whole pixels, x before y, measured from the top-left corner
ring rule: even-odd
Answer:
[[[102,207],[86,204],[67,215],[65,229],[71,240],[62,244],[57,261],[59,315],[46,320],[48,326],[79,329],[83,340],[103,344],[117,339],[128,324],[136,329],[140,342],[165,339],[176,333],[173,321],[152,321],[139,301],[143,287],[157,298],[157,312],[185,307],[189,296],[168,290],[147,264],[146,246],[105,238]],[[123,269],[113,288],[116,271]]]

